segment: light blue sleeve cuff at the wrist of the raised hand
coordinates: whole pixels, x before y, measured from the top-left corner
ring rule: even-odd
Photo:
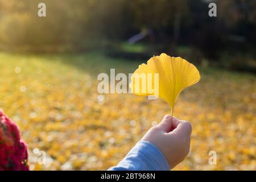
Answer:
[[[147,141],[138,142],[117,166],[109,171],[168,171],[170,166],[162,151]]]

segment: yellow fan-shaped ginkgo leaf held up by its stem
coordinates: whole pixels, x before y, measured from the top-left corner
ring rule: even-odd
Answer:
[[[172,112],[179,93],[196,84],[200,74],[195,65],[181,57],[171,57],[162,53],[151,57],[147,64],[131,76],[131,93],[138,96],[157,96],[168,102]]]

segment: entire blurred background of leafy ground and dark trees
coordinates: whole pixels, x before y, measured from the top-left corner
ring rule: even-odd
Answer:
[[[166,52],[201,74],[176,102],[193,133],[175,169],[255,170],[255,42],[253,0],[0,0],[0,108],[19,125],[32,170],[108,169],[170,108],[98,94],[97,75],[133,73]]]

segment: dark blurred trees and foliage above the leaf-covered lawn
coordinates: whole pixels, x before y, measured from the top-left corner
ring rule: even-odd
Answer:
[[[213,60],[225,51],[256,52],[254,0],[44,0],[46,17],[37,15],[39,2],[0,0],[0,49],[84,51],[147,30],[142,41],[174,56],[178,45]],[[217,17],[208,16],[209,2]]]

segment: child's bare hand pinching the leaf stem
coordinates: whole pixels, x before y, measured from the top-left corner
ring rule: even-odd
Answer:
[[[166,115],[162,122],[152,127],[142,138],[158,147],[174,168],[188,155],[192,126],[189,122]]]

